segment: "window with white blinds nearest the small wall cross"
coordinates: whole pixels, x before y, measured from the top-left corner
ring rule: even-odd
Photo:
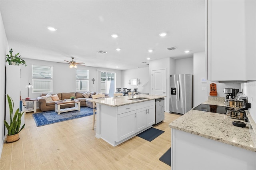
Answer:
[[[89,70],[76,69],[76,91],[89,90]]]

